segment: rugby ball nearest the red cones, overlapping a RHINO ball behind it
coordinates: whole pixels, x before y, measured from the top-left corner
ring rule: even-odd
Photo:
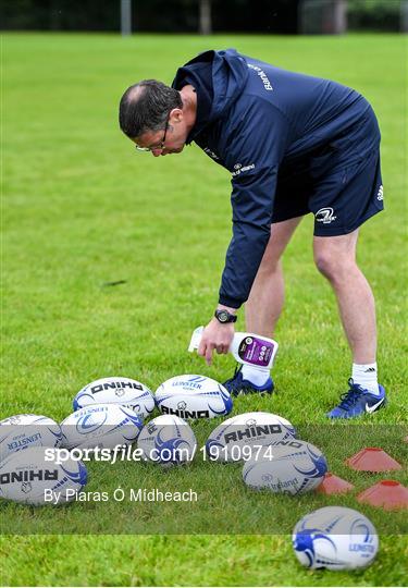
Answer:
[[[327,463],[318,448],[292,439],[269,445],[258,460],[246,462],[243,478],[257,490],[295,495],[314,490],[326,471]]]

